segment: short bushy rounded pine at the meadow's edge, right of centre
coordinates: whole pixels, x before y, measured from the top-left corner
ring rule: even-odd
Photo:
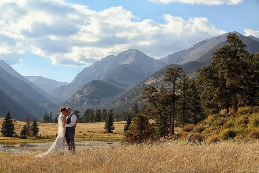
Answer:
[[[125,142],[143,143],[146,141],[155,141],[155,129],[149,123],[146,115],[138,114],[134,119],[129,129],[125,131]]]

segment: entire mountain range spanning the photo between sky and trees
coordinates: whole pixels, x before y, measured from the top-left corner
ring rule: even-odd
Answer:
[[[258,38],[231,33],[239,36],[250,54],[259,52]],[[50,110],[58,113],[60,106],[70,106],[81,112],[87,108],[113,108],[120,112],[135,103],[143,105],[144,102],[138,101],[142,89],[149,84],[159,87],[167,67],[181,66],[190,77],[196,78],[196,69],[210,64],[213,51],[228,44],[226,38],[231,33],[203,40],[161,59],[136,49],[109,55],[84,68],[71,83],[41,76],[21,76],[0,61],[0,93],[3,95],[0,116],[12,110],[17,119],[27,114],[41,119]]]

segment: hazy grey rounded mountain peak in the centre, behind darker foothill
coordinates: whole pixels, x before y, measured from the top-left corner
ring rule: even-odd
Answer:
[[[163,62],[149,57],[139,50],[129,49],[119,53],[117,56],[109,55],[104,57],[100,61],[96,61],[93,65],[84,68],[79,74],[77,74],[71,83],[57,88],[52,92],[52,95],[68,98],[73,95],[75,91],[81,89],[82,86],[87,84],[90,80],[107,80],[108,78],[116,80],[116,75],[117,78],[121,79],[121,77],[119,77],[120,74],[117,72],[123,73],[122,69],[131,69],[134,73],[138,73],[139,75],[136,76],[136,78],[138,78],[137,81],[142,81],[164,66],[165,64]],[[115,76],[112,74],[115,74]],[[122,82],[125,81],[122,80]],[[134,81],[128,81],[128,83],[129,86],[136,84]]]

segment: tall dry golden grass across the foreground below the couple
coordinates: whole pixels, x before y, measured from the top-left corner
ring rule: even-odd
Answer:
[[[75,155],[34,158],[0,154],[0,172],[259,172],[259,142],[168,142],[90,149]]]

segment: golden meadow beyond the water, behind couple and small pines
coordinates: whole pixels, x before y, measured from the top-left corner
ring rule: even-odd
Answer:
[[[2,125],[3,118],[0,118],[0,127]],[[121,140],[124,138],[123,129],[126,121],[114,122],[115,130],[113,133],[106,133],[104,130],[105,123],[78,123],[76,127],[75,141],[85,140]],[[20,131],[25,125],[23,121],[15,121],[16,134],[20,136]],[[35,143],[35,142],[54,142],[56,139],[56,133],[58,131],[57,124],[51,123],[39,123],[39,135],[41,138],[19,139],[19,138],[6,138],[0,133],[0,144],[19,144],[19,143]],[[181,131],[180,128],[175,129],[176,133]],[[46,138],[47,135],[49,138]]]

